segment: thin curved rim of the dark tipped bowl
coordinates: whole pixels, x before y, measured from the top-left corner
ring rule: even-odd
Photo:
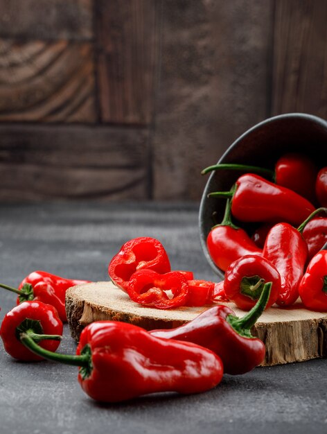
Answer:
[[[266,125],[267,123],[273,123],[273,122],[279,121],[281,119],[306,119],[306,120],[313,121],[313,122],[315,122],[315,123],[317,123],[317,124],[319,124],[322,127],[327,129],[327,121],[325,119],[320,118],[319,116],[315,116],[314,114],[308,114],[308,113],[302,113],[302,112],[291,112],[291,113],[278,114],[276,116],[269,117],[267,119],[264,119],[263,121],[256,123],[251,128],[249,128],[248,130],[243,132],[236,140],[233,141],[233,143],[227,148],[227,150],[224,151],[224,153],[222,154],[220,159],[218,159],[218,162],[216,164],[219,164],[220,162],[222,162],[222,160],[225,157],[227,157],[227,155],[229,155],[229,153],[231,153],[231,150],[233,150],[233,148],[235,148],[235,146],[237,146],[238,143],[240,141],[242,141],[242,139],[247,137],[248,134],[251,134],[251,132],[258,130],[259,128],[261,128],[263,125]],[[213,260],[211,259],[210,254],[208,252],[208,249],[206,248],[206,239],[204,239],[204,236],[203,236],[204,229],[203,229],[203,225],[202,225],[202,222],[203,222],[202,215],[204,214],[204,202],[206,202],[206,196],[208,194],[209,185],[211,184],[211,179],[214,175],[215,175],[214,172],[211,173],[208,180],[206,181],[206,185],[204,186],[204,191],[202,193],[202,197],[201,197],[201,201],[200,201],[200,207],[199,207],[199,216],[198,216],[198,224],[199,224],[199,229],[200,229],[199,235],[200,235],[200,243],[201,243],[202,251],[204,252],[204,256],[206,257],[206,260],[209,262],[209,265],[211,266],[211,268],[213,269],[215,274],[218,275],[219,277],[221,277],[222,279],[224,279],[224,272],[222,270],[220,270],[220,268],[218,268],[215,265],[215,263],[213,262]]]

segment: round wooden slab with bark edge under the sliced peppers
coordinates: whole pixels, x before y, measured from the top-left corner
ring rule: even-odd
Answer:
[[[233,303],[225,303],[236,315],[245,315]],[[170,329],[193,320],[204,307],[181,307],[161,311],[136,304],[112,282],[73,286],[67,291],[66,310],[71,336],[78,340],[82,329],[98,320],[136,324],[144,329]],[[266,346],[263,366],[307,361],[327,355],[327,313],[272,307],[260,317],[253,333]]]

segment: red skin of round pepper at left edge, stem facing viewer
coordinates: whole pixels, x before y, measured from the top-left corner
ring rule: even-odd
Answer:
[[[21,361],[42,360],[42,357],[24,347],[17,336],[17,327],[26,319],[38,321],[46,335],[62,335],[62,321],[53,306],[38,301],[21,303],[3,318],[0,335],[7,353]],[[42,340],[40,345],[49,351],[55,351],[59,344],[58,340]]]

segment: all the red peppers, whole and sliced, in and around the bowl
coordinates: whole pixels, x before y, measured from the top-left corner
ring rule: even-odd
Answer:
[[[247,172],[230,191],[209,194],[226,199],[224,218],[207,238],[224,281],[215,284],[188,270],[172,270],[164,246],[150,237],[127,241],[108,268],[133,302],[154,309],[206,306],[197,318],[151,331],[125,322],[94,322],[82,331],[76,354],[60,354],[55,351],[67,321],[65,293],[88,281],[35,271],[18,288],[0,284],[18,295],[0,329],[8,354],[76,365],[82,390],[97,401],[199,393],[218,385],[224,373],[245,374],[263,362],[265,345],[251,328],[265,309],[290,306],[301,297],[306,308],[327,311],[327,168],[289,154],[274,171],[220,164],[203,173],[222,169]],[[248,233],[243,222],[256,223],[256,229]],[[238,318],[216,304],[219,300],[232,300],[248,312]]]

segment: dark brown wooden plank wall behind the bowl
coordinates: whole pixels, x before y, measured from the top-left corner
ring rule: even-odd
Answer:
[[[199,200],[258,121],[327,117],[324,0],[0,0],[0,200]]]

